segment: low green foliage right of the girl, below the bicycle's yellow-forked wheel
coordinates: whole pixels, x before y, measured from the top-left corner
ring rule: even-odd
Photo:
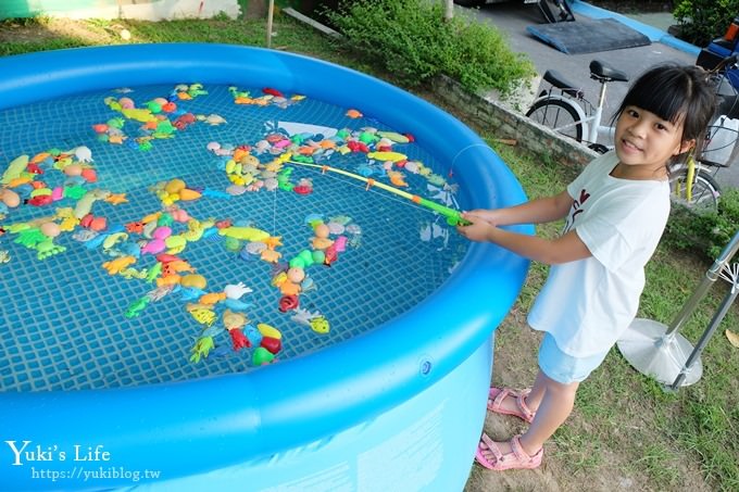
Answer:
[[[739,190],[729,189],[718,200],[718,211],[694,214],[676,207],[667,223],[665,240],[682,250],[698,249],[715,260],[739,230]]]

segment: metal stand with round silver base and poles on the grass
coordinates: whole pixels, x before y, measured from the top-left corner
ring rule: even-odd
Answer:
[[[735,264],[734,268],[728,265],[737,250],[739,250],[739,230],[705,273],[705,277],[669,327],[646,318],[636,318],[631,323],[617,345],[622,355],[635,369],[653,377],[673,391],[677,391],[681,386],[692,384],[701,378],[703,375],[701,352],[726,316],[734,300],[739,295],[739,265]],[[732,285],[731,289],[693,349],[690,342],[678,333],[678,330],[719,277],[729,281]]]

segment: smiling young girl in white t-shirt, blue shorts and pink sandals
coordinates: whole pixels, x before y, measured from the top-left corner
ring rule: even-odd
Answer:
[[[544,331],[529,391],[490,389],[488,409],[530,422],[510,442],[485,433],[477,462],[493,470],[536,468],[543,443],[573,409],[577,387],[629,326],[644,287],[644,264],[669,215],[668,166],[703,135],[714,111],[706,73],[659,66],[634,84],[616,113],[615,151],[592,161],[565,191],[499,210],[463,214],[458,228],[551,266],[528,324]],[[565,218],[556,239],[501,229]]]

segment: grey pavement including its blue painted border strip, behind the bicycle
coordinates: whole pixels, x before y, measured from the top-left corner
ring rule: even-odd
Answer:
[[[592,7],[579,0],[569,3],[573,7],[576,18],[616,18],[648,36],[652,43],[643,47],[598,53],[566,54],[540,41],[526,30],[528,25],[543,23],[543,17],[536,4],[524,4],[519,0],[512,0],[503,3],[488,4],[479,10],[464,10],[476,15],[479,21],[490,23],[503,31],[509,38],[511,48],[514,51],[526,53],[534,62],[540,75],[547,70],[556,70],[565,75],[575,87],[583,88],[586,97],[593,103],[598,101],[600,84],[590,79],[588,65],[591,60],[601,60],[625,72],[631,78],[637,77],[650,66],[659,63],[696,63],[700,49],[666,33],[665,26],[668,27],[673,23],[669,14],[634,15],[627,17]],[[542,85],[542,87],[544,86]],[[610,122],[610,117],[621,103],[627,88],[627,84],[609,84],[603,124]],[[722,186],[739,188],[739,164],[718,171],[715,177]]]

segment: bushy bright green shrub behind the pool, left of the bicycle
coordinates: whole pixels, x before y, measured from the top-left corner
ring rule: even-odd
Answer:
[[[441,2],[343,1],[325,15],[350,48],[405,86],[443,74],[468,90],[494,88],[505,94],[534,75],[531,63],[511,51],[494,27],[459,14],[444,21]]]

